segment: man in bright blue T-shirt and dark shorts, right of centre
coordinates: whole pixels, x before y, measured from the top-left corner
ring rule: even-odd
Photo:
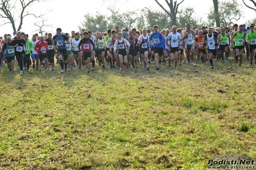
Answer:
[[[164,49],[163,49],[163,43],[164,38],[162,33],[158,31],[158,26],[153,26],[154,32],[149,37],[149,45],[151,45],[151,40],[153,40],[153,51],[155,54],[155,63],[157,65],[157,70],[159,70],[159,57],[163,55]],[[151,45],[152,46],[152,45]]]

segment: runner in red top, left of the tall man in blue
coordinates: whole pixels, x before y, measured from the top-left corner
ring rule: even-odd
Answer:
[[[44,72],[47,73],[47,68],[49,67],[47,57],[48,43],[44,40],[44,36],[40,36],[40,41],[35,44],[34,49],[38,52],[40,61],[44,60]]]

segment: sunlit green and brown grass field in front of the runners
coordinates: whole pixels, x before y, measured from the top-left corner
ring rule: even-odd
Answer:
[[[207,169],[214,155],[256,158],[255,67],[200,63],[24,76],[3,66],[0,169]]]

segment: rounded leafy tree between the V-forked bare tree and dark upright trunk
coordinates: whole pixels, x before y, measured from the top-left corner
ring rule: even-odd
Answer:
[[[191,26],[200,27],[204,26],[205,23],[202,22],[201,17],[197,17],[194,13],[194,8],[188,7],[185,10],[178,12],[178,27],[185,27],[186,24],[191,24]]]

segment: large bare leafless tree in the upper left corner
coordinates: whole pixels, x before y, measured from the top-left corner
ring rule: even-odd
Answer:
[[[23,20],[28,15],[33,15],[35,18],[42,17],[42,15],[37,16],[28,11],[28,7],[36,2],[40,2],[40,0],[1,0],[0,18],[4,23],[0,26],[12,24],[13,35],[15,35],[17,31],[21,30]],[[16,20],[19,20],[18,27],[16,27]]]

